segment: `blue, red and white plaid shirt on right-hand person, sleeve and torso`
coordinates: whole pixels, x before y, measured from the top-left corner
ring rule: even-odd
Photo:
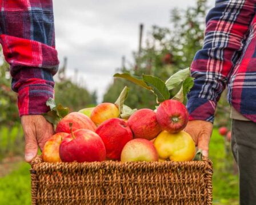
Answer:
[[[226,85],[229,103],[256,122],[256,0],[219,0],[206,18],[202,50],[191,64],[190,120],[213,122]]]

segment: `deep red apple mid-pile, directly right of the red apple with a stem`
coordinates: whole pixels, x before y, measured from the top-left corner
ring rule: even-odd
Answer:
[[[123,146],[133,140],[133,133],[125,121],[120,118],[106,120],[96,130],[106,147],[107,158],[120,159]]]

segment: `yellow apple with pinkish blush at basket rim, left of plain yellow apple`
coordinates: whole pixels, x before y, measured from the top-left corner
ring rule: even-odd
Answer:
[[[127,142],[121,153],[121,162],[158,161],[153,142],[138,138]]]

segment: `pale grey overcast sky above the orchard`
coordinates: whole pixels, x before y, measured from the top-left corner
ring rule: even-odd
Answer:
[[[138,48],[138,26],[170,27],[170,10],[185,8],[195,0],[55,0],[55,36],[61,65],[67,56],[67,75],[83,78],[89,91],[97,90],[102,100],[107,85],[113,80],[121,58],[132,60]],[[209,1],[213,7],[214,0]]]

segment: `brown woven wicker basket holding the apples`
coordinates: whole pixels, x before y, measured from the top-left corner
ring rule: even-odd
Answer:
[[[212,204],[212,163],[32,162],[32,204]]]

